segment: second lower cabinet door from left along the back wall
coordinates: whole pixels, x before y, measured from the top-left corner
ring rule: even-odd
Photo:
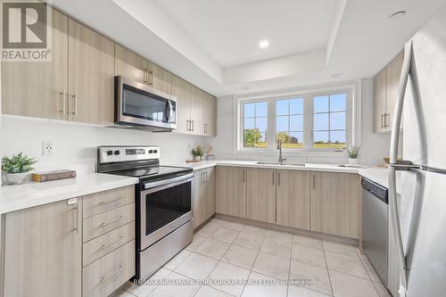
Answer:
[[[247,173],[246,218],[276,222],[276,169],[253,169]]]

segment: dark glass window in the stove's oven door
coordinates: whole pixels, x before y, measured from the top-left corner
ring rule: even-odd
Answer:
[[[145,195],[145,235],[191,211],[191,186],[187,182]]]

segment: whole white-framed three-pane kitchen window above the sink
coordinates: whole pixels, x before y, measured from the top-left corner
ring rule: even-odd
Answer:
[[[351,89],[238,99],[238,152],[343,151],[353,142]]]

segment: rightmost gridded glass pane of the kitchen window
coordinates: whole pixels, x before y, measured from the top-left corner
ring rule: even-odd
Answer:
[[[314,97],[313,138],[315,148],[346,147],[346,106],[346,94]]]

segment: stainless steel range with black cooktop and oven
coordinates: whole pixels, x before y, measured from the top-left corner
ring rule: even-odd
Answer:
[[[99,146],[97,170],[138,177],[136,279],[152,276],[192,242],[192,169],[160,166],[157,146]]]

